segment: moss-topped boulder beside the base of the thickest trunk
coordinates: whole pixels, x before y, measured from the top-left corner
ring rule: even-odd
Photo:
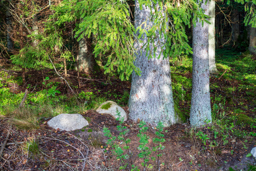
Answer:
[[[105,101],[104,103],[102,103],[99,106],[99,108],[96,109],[96,112],[112,115],[115,119],[117,119],[117,117],[119,117],[117,115],[117,111],[120,112],[120,117],[123,118],[124,121],[127,121],[127,115],[126,115],[124,109],[121,108],[114,101]]]

